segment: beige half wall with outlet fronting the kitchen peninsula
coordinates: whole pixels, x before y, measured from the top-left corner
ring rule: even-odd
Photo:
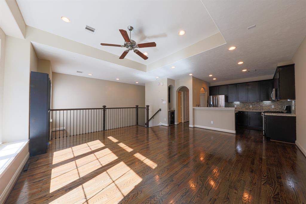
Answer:
[[[194,124],[195,127],[236,133],[235,110],[194,108]]]

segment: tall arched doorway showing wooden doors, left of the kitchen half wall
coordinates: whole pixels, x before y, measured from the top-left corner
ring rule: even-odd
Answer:
[[[189,121],[189,89],[186,86],[181,86],[177,89],[177,123]]]

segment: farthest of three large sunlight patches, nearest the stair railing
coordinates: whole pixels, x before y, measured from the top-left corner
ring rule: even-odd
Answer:
[[[92,150],[99,149],[104,146],[105,145],[100,140],[95,140],[71,148],[56,151],[53,153],[52,164],[57,164],[59,162],[71,159],[84,153],[88,153]]]

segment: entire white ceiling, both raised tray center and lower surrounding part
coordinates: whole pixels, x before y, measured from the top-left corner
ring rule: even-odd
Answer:
[[[99,47],[101,42],[115,44],[122,42],[118,29],[125,29],[127,25],[135,28],[135,38],[132,34],[134,40],[141,39],[141,29],[145,36],[158,35],[155,38],[147,37],[139,41],[140,43],[151,41],[157,43],[156,48],[147,48],[150,50],[146,50],[149,53],[146,63],[154,62],[196,43],[218,32],[218,29],[226,40],[225,45],[147,73],[34,43],[38,57],[51,60],[52,69],[55,72],[77,75],[76,70],[79,70],[84,71],[84,76],[89,77],[87,72],[91,71],[94,78],[116,81],[115,78],[119,77],[120,82],[132,84],[139,81],[143,85],[147,81],[156,80],[156,76],[178,79],[188,76],[189,73],[208,82],[271,75],[274,74],[278,62],[292,59],[306,35],[306,1],[304,0],[203,1],[208,13],[200,1],[114,2],[17,1],[27,25],[99,49],[103,49]],[[126,12],[122,12],[122,9],[131,5],[137,8],[137,12],[131,12],[125,16]],[[69,17],[71,23],[67,24],[60,20],[63,15]],[[123,21],[120,21],[121,18]],[[255,28],[247,30],[247,27],[254,24],[256,24]],[[85,25],[97,28],[95,35],[83,32]],[[110,29],[102,32],[105,25]],[[186,30],[185,36],[177,35],[180,29]],[[164,48],[161,49],[162,46]],[[228,51],[227,48],[230,46],[237,46],[237,49]],[[111,47],[106,51],[121,55],[123,51],[121,49],[123,48]],[[143,49],[146,48],[141,50],[145,52]],[[132,54],[134,53],[127,55],[131,57],[129,59],[144,63],[144,60],[138,55],[133,56]],[[239,61],[244,61],[244,64],[237,65]],[[171,69],[171,66],[176,66],[176,68]],[[241,72],[242,69],[256,69],[257,71],[248,73]],[[213,81],[208,74],[213,74],[217,80]]]

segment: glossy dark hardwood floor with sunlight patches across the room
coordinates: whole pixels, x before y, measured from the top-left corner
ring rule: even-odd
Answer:
[[[306,203],[295,145],[188,123],[53,139],[6,203]]]

